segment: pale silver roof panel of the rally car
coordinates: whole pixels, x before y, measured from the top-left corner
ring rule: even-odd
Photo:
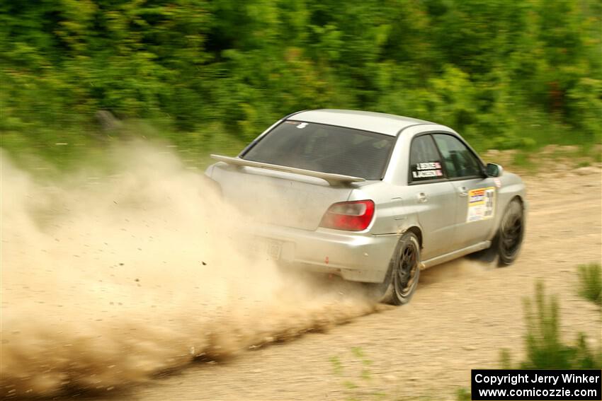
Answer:
[[[317,122],[319,124],[330,124],[339,127],[362,129],[364,131],[379,132],[397,136],[399,132],[411,125],[434,124],[425,120],[418,120],[400,115],[385,114],[382,112],[366,112],[359,110],[307,110],[296,112],[286,117],[286,120],[297,120],[304,122]]]

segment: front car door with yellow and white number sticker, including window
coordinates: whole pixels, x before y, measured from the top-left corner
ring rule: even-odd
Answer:
[[[443,167],[455,189],[457,248],[486,240],[492,231],[497,202],[494,178],[483,173],[479,158],[452,134],[433,134]]]

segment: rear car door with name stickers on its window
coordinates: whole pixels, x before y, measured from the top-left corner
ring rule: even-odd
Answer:
[[[443,255],[454,247],[458,199],[430,134],[414,136],[410,146],[407,198],[417,209],[423,232],[422,259]]]

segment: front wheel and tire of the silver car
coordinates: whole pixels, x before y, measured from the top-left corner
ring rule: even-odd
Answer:
[[[525,214],[523,204],[512,199],[501,217],[499,228],[494,238],[494,246],[498,255],[498,265],[511,265],[521,252],[525,236]]]

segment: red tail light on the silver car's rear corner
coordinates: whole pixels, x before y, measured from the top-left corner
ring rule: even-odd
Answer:
[[[344,231],[363,231],[374,216],[374,202],[371,200],[337,202],[326,211],[320,227]]]

